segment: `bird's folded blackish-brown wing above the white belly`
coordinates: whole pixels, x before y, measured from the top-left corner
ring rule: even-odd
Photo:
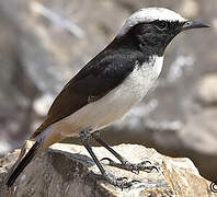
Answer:
[[[134,70],[126,53],[101,53],[83,67],[54,101],[47,118],[33,134],[33,138],[49,125],[73,114],[90,102],[100,100]]]

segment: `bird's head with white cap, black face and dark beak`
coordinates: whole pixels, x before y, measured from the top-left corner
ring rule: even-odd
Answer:
[[[138,45],[145,53],[162,56],[175,35],[186,30],[202,27],[208,25],[198,21],[189,21],[164,8],[147,8],[132,14],[116,38]]]

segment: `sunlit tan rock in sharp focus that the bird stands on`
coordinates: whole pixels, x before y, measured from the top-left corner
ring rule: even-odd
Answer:
[[[19,152],[15,150],[0,160],[0,196],[210,196],[209,182],[204,179],[191,160],[173,159],[141,146],[121,144],[114,147],[133,163],[151,160],[159,172],[134,174],[112,166],[106,169],[116,176],[138,179],[130,188],[119,189],[96,178],[99,170],[83,147],[56,143],[52,149],[35,158],[19,176],[10,190],[3,179]],[[104,148],[93,148],[99,159],[114,159]],[[217,196],[212,194],[213,196]]]

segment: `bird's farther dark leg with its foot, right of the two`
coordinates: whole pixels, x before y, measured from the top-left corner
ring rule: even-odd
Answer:
[[[150,161],[142,161],[140,163],[134,164],[128,162],[126,159],[124,159],[119,153],[117,153],[114,149],[112,149],[105,141],[103,141],[100,138],[100,132],[95,131],[91,135],[100,144],[102,144],[105,149],[107,149],[112,154],[115,155],[115,158],[117,158],[119,160],[121,163],[117,163],[113,160],[111,160],[110,158],[103,158],[101,161],[103,160],[107,160],[108,161],[108,165],[111,166],[116,166],[119,169],[124,169],[124,170],[128,170],[132,171],[134,173],[139,173],[139,171],[146,171],[146,172],[151,172],[152,170],[157,170],[158,167],[156,167],[155,165],[151,165]]]

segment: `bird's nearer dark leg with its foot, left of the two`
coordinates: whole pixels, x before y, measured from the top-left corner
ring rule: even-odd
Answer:
[[[100,161],[98,160],[98,158],[95,157],[90,143],[89,143],[89,139],[91,137],[90,130],[85,129],[79,132],[79,138],[82,142],[82,144],[85,147],[85,149],[88,150],[88,152],[90,153],[90,155],[92,157],[93,161],[95,162],[95,164],[98,165],[103,179],[107,181],[108,183],[111,183],[112,185],[119,187],[119,188],[128,188],[133,185],[134,182],[136,181],[132,181],[132,182],[127,182],[127,177],[116,177],[115,175],[111,174],[110,172],[105,171],[102,166],[102,164],[100,163]]]

